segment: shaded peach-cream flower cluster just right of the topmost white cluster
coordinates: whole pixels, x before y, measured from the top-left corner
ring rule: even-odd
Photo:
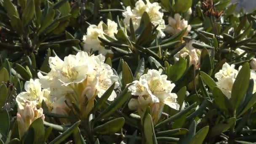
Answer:
[[[168,19],[168,25],[165,28],[165,32],[171,35],[175,35],[179,32],[181,32],[183,29],[186,29],[186,32],[184,33],[184,36],[187,36],[189,31],[191,30],[191,26],[188,24],[188,21],[185,19],[181,20],[181,15],[179,13],[176,13],[174,15],[174,19],[172,17],[169,17]]]

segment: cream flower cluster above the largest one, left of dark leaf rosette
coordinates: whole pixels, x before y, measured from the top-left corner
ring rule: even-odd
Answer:
[[[101,21],[97,26],[92,24],[87,28],[87,33],[83,37],[84,51],[99,51],[102,55],[113,53],[111,50],[107,50],[101,45],[101,41],[98,37],[106,38],[104,36],[105,34],[109,37],[115,38],[114,33],[117,33],[117,23],[108,19],[107,27],[104,27],[104,25],[103,21]]]

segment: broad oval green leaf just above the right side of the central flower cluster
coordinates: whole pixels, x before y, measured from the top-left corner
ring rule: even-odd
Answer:
[[[187,69],[187,61],[182,57],[175,64],[167,69],[168,79],[172,82],[179,80]]]

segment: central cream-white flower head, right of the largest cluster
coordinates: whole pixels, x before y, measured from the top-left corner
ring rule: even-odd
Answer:
[[[179,104],[176,101],[177,95],[171,93],[175,84],[167,80],[167,75],[161,75],[162,71],[162,69],[159,71],[149,69],[147,74],[140,77],[139,81],[133,81],[134,84],[128,90],[132,95],[138,96],[138,103],[142,107],[154,103],[164,103],[173,109],[179,109]],[[133,107],[131,102],[129,107]]]

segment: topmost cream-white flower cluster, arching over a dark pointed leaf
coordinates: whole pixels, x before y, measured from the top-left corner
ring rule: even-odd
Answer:
[[[123,12],[125,17],[124,24],[129,28],[130,19],[133,21],[134,30],[138,29],[141,22],[141,17],[144,12],[149,15],[149,19],[154,26],[157,26],[159,37],[165,37],[163,29],[165,29],[165,21],[163,20],[163,13],[160,12],[161,6],[158,3],[150,3],[149,0],[146,0],[146,3],[143,0],[138,0],[135,4],[135,7],[131,9],[130,6],[126,7],[126,11]]]

